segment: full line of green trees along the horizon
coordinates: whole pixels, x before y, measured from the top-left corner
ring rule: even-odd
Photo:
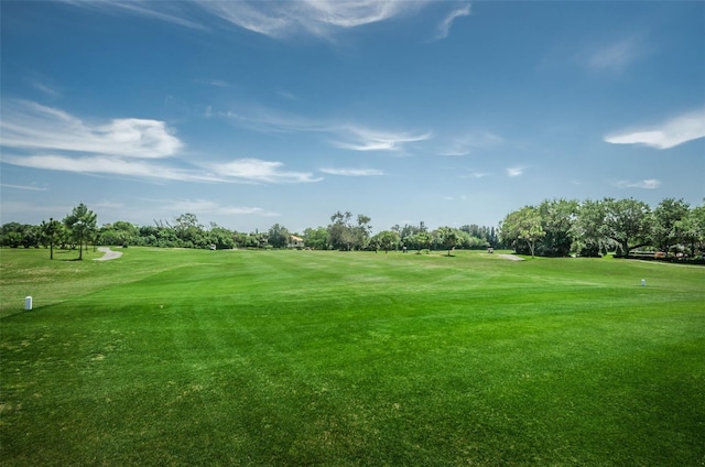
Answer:
[[[600,256],[616,251],[659,251],[665,256],[703,254],[705,245],[705,205],[691,207],[682,199],[663,199],[654,209],[646,203],[628,199],[601,200],[546,199],[509,213],[499,227],[464,225],[431,230],[419,225],[392,226],[372,235],[371,218],[337,211],[327,226],[292,232],[274,224],[267,231],[239,232],[198,221],[186,213],[172,221],[135,226],[116,221],[101,227],[97,216],[80,203],[62,220],[50,218],[39,226],[9,222],[0,227],[0,246],[11,248],[78,249],[78,258],[88,245],[142,246],[161,248],[306,248],[317,250],[447,250],[513,248],[518,253],[546,257]]]

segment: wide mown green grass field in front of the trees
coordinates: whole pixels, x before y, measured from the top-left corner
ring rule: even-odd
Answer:
[[[703,268],[99,254],[0,250],[1,465],[705,463]]]

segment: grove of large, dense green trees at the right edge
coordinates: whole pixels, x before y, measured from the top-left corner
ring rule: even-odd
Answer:
[[[519,253],[595,257],[637,251],[694,258],[705,246],[705,205],[665,198],[651,207],[633,198],[546,199],[501,221],[500,241]]]

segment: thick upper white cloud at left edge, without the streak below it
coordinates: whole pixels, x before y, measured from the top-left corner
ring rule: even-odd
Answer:
[[[174,155],[182,142],[163,121],[113,119],[85,123],[63,110],[26,100],[3,100],[2,146],[158,159]]]

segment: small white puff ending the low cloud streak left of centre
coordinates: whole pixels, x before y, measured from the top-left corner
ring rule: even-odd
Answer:
[[[210,164],[210,169],[226,178],[270,182],[270,183],[301,183],[318,182],[308,172],[282,171],[281,162],[262,161],[259,159],[238,159],[227,163]]]

